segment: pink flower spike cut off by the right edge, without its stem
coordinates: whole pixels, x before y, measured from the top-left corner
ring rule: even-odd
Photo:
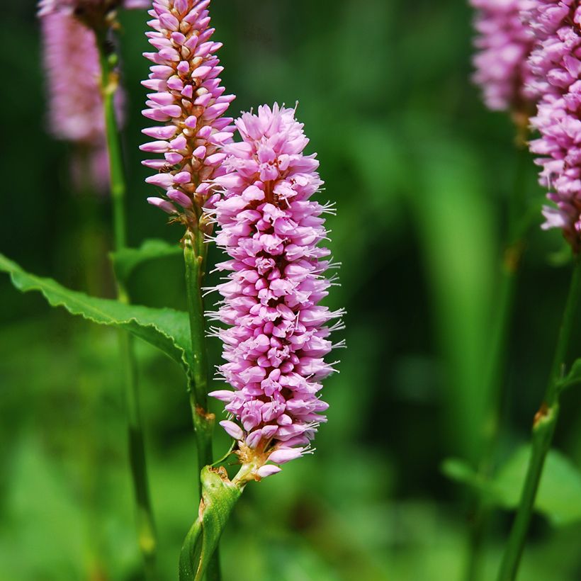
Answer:
[[[531,90],[541,95],[531,124],[541,137],[540,181],[555,207],[543,208],[544,228],[558,227],[575,252],[581,247],[581,7],[575,0],[534,0],[526,19],[538,38],[529,59]]]

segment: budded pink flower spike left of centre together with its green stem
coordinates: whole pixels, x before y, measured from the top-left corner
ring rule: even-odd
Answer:
[[[214,416],[208,411],[208,363],[202,287],[206,269],[205,237],[212,225],[205,208],[218,198],[212,180],[222,175],[225,154],[220,146],[232,140],[232,118],[224,117],[234,99],[224,95],[215,56],[222,46],[212,40],[208,6],[210,0],[155,0],[150,11],[152,31],[147,33],[157,52],[146,52],[154,64],[143,84],[147,95],[145,117],[157,123],[143,130],[154,141],[142,145],[145,152],[163,154],[163,159],[143,162],[157,173],[149,184],[164,190],[164,197],[148,201],[172,215],[172,222],[186,227],[182,239],[186,268],[186,293],[191,330],[190,394],[200,468],[213,463]],[[210,563],[208,577],[220,578],[218,553]]]

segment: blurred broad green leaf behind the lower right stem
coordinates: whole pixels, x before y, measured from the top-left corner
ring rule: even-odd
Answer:
[[[531,446],[522,446],[500,468],[493,482],[499,504],[505,508],[519,504],[530,455]],[[581,520],[580,470],[557,450],[550,450],[547,455],[535,508],[555,525]]]

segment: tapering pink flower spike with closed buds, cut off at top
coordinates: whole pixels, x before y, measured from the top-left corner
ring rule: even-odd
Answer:
[[[224,95],[222,67],[212,40],[210,0],[155,0],[147,33],[157,52],[146,52],[154,64],[143,84],[147,95],[145,117],[161,125],[143,130],[154,141],[145,152],[163,154],[143,164],[158,171],[147,182],[163,188],[164,198],[147,201],[188,224],[212,194],[210,180],[223,173],[221,145],[232,141],[232,118],[223,117],[232,95]],[[197,219],[197,218],[196,218]]]

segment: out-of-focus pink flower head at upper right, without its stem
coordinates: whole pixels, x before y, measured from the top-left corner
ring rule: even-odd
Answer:
[[[521,22],[519,11],[526,0],[470,0],[478,9],[478,37],[474,57],[474,81],[484,94],[488,108],[522,111],[527,106],[529,80],[526,57],[534,33]]]

